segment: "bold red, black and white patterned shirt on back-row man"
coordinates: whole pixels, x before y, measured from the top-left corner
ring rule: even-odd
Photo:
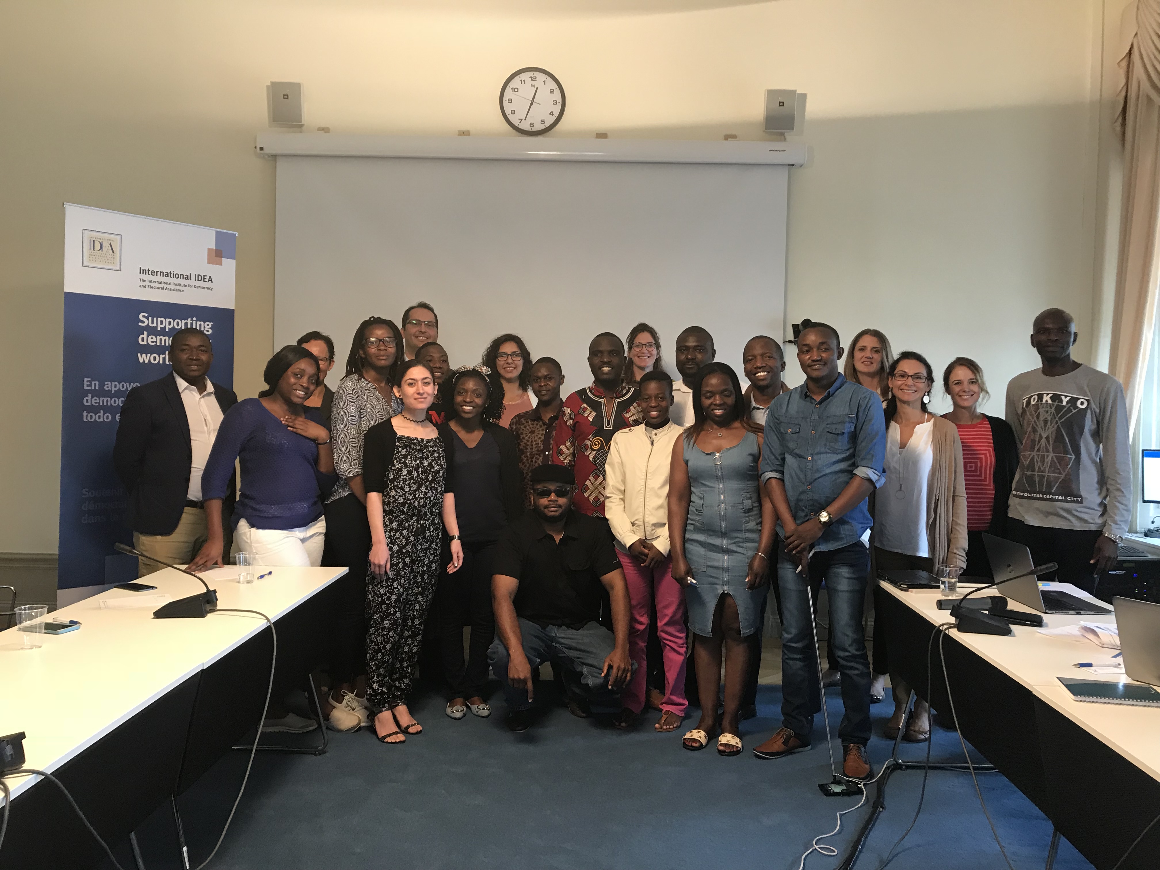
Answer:
[[[581,514],[604,515],[604,463],[612,435],[644,422],[635,386],[616,391],[612,413],[604,405],[604,391],[593,384],[564,400],[552,436],[552,462],[571,465],[577,476],[573,500]]]

